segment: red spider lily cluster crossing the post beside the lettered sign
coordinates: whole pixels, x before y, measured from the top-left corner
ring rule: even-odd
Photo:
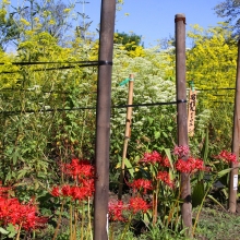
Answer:
[[[176,169],[181,172],[191,173],[197,170],[205,170],[205,167],[203,160],[190,157],[188,160],[178,159]]]

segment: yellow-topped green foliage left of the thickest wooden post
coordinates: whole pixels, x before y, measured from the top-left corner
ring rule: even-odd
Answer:
[[[86,57],[85,50],[91,48],[92,44],[75,49],[61,48],[49,34],[28,32],[16,57],[1,53],[5,60],[1,71],[17,71],[0,76],[0,167],[3,169],[0,178],[4,184],[21,182],[28,189],[47,189],[47,182],[59,179],[55,168],[60,159],[93,157],[95,111],[73,108],[94,106],[96,71],[77,67],[59,69],[69,65],[61,62],[81,61]],[[83,52],[81,59],[77,57],[80,52]],[[60,64],[17,67],[10,63],[13,61]],[[56,70],[47,71],[46,68]]]

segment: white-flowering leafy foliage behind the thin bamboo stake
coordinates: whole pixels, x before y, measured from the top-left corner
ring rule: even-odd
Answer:
[[[144,49],[144,57],[131,58],[121,45],[116,45],[112,72],[112,106],[128,103],[128,86],[119,86],[130,73],[134,74],[133,104],[154,104],[175,101],[175,85],[164,80],[169,70],[167,52],[158,48]],[[160,94],[159,94],[160,93]],[[111,111],[111,165],[116,167],[121,159],[125,109],[113,108]],[[129,159],[134,161],[147,149],[161,151],[163,146],[172,146],[176,130],[176,106],[161,105],[134,107],[132,113]],[[121,141],[122,140],[122,141]]]

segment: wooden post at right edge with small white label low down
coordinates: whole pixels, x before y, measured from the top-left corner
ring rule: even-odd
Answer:
[[[240,40],[238,41],[238,62],[237,62],[237,77],[235,92],[235,116],[232,129],[232,144],[231,152],[239,159],[240,147]],[[236,213],[237,208],[237,192],[238,192],[238,170],[239,164],[231,164],[233,168],[230,172],[229,200],[228,207],[231,213]]]

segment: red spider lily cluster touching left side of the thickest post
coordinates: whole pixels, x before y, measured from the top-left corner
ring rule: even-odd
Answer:
[[[83,201],[94,193],[94,166],[88,160],[72,159],[70,164],[62,164],[61,170],[75,180],[75,185],[65,184],[53,187],[51,195],[71,197]]]

